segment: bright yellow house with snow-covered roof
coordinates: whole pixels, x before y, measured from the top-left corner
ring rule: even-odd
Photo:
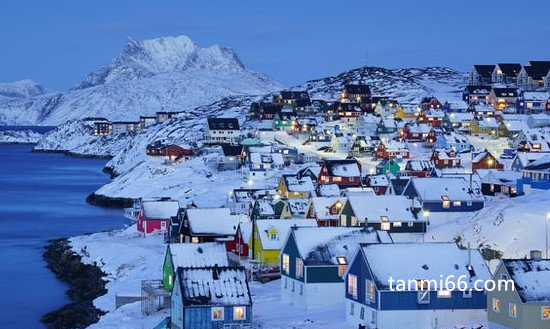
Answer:
[[[317,221],[315,219],[257,220],[248,243],[252,259],[261,264],[278,266],[279,252],[293,226],[317,226]]]

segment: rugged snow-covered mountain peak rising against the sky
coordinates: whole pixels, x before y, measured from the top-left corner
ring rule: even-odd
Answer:
[[[128,42],[109,65],[90,73],[75,89],[149,78],[190,69],[242,71],[244,65],[231,48],[198,47],[184,35]]]

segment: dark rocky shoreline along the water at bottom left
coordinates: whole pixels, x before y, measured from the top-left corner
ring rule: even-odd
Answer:
[[[93,301],[107,293],[105,272],[96,264],[82,262],[67,238],[49,241],[44,247],[43,258],[55,276],[69,285],[65,293],[71,300],[42,316],[41,321],[47,328],[85,328],[98,322],[105,312],[96,308]]]

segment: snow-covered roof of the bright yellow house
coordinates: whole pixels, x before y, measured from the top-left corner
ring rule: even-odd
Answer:
[[[256,221],[258,234],[264,250],[280,250],[290,229],[296,227],[317,227],[315,219],[262,219]],[[276,231],[275,239],[270,232]]]

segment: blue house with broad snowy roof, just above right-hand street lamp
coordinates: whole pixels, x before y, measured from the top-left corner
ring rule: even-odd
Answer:
[[[418,201],[422,209],[431,212],[476,211],[483,208],[485,197],[481,188],[472,179],[413,178],[403,191],[413,201]]]

